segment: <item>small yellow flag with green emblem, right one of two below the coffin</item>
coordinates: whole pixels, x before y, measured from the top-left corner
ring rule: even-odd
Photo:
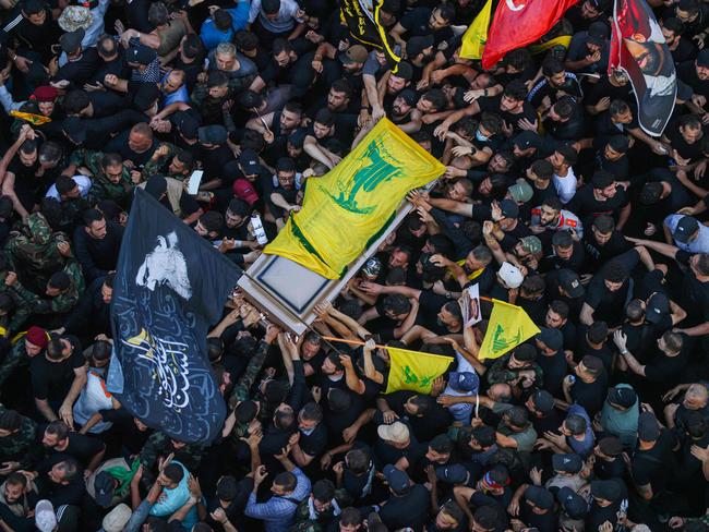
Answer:
[[[497,359],[510,349],[539,334],[539,327],[520,306],[492,300],[493,307],[485,338],[480,346],[480,360]]]

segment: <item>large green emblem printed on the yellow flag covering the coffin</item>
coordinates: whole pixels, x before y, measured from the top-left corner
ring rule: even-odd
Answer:
[[[384,147],[383,143],[372,141],[362,159],[369,159],[370,164],[354,172],[352,179],[346,183],[338,181],[339,194],[334,195],[326,191],[337,205],[350,213],[366,215],[374,210],[375,206],[362,206],[357,203],[357,195],[360,191],[373,192],[380,184],[401,176],[400,162],[396,160]],[[390,159],[390,160],[389,160]],[[349,189],[349,190],[348,190]]]

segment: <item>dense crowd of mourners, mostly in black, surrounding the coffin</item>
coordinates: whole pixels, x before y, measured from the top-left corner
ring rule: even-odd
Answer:
[[[0,0],[0,531],[709,530],[709,5],[649,3],[678,78],[660,137],[608,72],[610,0],[489,71],[460,57],[481,0],[384,0],[396,70],[331,0]],[[252,215],[273,239],[384,117],[445,174],[307,334],[229,299],[217,440],[127,412],[134,189],[245,269]],[[480,360],[474,285],[540,334]],[[381,346],[454,362],[384,394]]]

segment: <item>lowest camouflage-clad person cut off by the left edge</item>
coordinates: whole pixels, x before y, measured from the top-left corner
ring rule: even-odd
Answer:
[[[0,477],[31,469],[43,451],[37,444],[37,424],[0,404]]]

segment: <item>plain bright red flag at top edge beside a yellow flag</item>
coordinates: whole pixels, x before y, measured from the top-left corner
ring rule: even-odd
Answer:
[[[500,0],[482,53],[490,69],[505,53],[533,43],[549,32],[578,0]]]

